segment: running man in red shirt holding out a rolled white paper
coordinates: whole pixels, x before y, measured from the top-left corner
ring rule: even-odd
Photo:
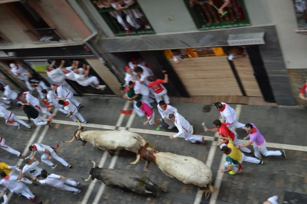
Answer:
[[[210,132],[219,132],[220,139],[222,137],[229,137],[232,139],[234,145],[243,145],[243,143],[240,142],[240,140],[235,136],[235,134],[227,127],[225,123],[222,123],[220,120],[213,121],[213,129],[205,128],[204,131],[210,131]],[[226,146],[227,147],[228,140],[223,139],[223,141],[220,141],[217,143],[217,146],[219,146],[221,149]],[[240,150],[251,153],[251,150],[247,147],[241,147]]]

